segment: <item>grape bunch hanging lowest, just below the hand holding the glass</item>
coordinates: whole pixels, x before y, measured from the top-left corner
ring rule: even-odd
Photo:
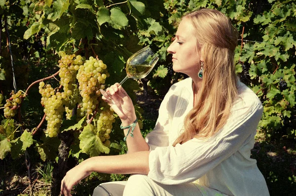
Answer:
[[[110,146],[110,133],[112,131],[112,123],[115,122],[114,112],[106,102],[101,102],[100,107],[104,107],[100,116],[97,116],[97,128],[100,140],[107,147]]]

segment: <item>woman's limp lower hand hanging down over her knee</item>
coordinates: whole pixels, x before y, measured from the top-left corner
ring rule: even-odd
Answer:
[[[69,170],[61,183],[61,195],[72,196],[71,189],[73,186],[90,174],[91,171],[87,171],[87,166],[83,162]]]

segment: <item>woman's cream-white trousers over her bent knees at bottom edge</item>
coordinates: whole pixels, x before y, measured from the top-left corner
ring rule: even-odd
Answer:
[[[134,174],[128,181],[100,184],[92,196],[202,196],[194,183],[163,185],[147,175]]]

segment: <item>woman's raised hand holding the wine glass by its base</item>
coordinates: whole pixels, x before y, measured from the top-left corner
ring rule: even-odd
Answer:
[[[103,96],[103,100],[106,101],[114,112],[121,119],[122,123],[130,124],[136,119],[135,108],[131,98],[122,88],[119,83],[115,83],[111,87],[106,89],[106,92],[111,96],[111,100],[106,99]]]

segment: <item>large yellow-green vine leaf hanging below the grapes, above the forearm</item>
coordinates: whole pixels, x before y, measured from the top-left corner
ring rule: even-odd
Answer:
[[[110,152],[110,149],[104,146],[99,136],[97,136],[96,127],[92,124],[88,124],[84,127],[79,135],[79,140],[80,149],[90,157],[98,156],[101,153],[108,154]]]

